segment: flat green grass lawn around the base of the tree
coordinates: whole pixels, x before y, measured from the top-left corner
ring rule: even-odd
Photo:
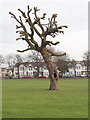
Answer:
[[[3,118],[88,118],[88,80],[60,79],[49,91],[49,79],[3,80]]]

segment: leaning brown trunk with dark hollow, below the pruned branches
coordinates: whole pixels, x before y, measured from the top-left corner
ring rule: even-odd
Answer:
[[[46,50],[46,48],[42,49],[41,54],[49,70],[49,77],[50,77],[49,90],[58,90],[58,74],[57,74],[57,70],[56,70],[54,63],[51,60],[51,55]]]

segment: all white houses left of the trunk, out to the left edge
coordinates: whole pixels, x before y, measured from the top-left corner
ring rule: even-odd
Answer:
[[[44,63],[43,63],[44,64]],[[14,78],[23,78],[23,77],[36,77],[37,76],[38,68],[35,66],[35,63],[19,63],[16,64],[12,69],[8,68],[7,65],[2,64],[0,66],[0,77],[14,77]],[[19,74],[19,75],[18,75]],[[46,65],[44,64],[43,67],[39,67],[39,76],[49,76],[49,72],[47,70]]]

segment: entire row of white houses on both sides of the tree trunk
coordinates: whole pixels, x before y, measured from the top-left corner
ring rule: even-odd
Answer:
[[[13,75],[14,78],[23,78],[23,77],[36,77],[37,71],[39,76],[49,77],[49,72],[45,63],[42,63],[42,66],[39,66],[39,69],[36,67],[34,62],[24,62],[16,64],[12,69],[8,68],[8,65],[2,64],[0,65],[0,77],[11,77]],[[12,73],[13,72],[13,73]],[[58,75],[61,74],[61,71],[58,70]],[[86,76],[87,75],[87,67],[81,61],[77,61],[74,67],[70,67],[68,72],[64,73],[64,75],[71,76]]]

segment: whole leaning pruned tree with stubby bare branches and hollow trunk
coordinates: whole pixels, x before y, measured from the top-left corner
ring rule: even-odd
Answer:
[[[50,76],[50,90],[58,90],[58,75],[56,67],[54,66],[51,57],[52,56],[63,56],[66,55],[66,53],[63,54],[56,54],[52,51],[49,51],[47,49],[47,46],[51,45],[57,45],[59,44],[58,41],[53,42],[51,40],[47,40],[47,36],[52,36],[55,38],[55,36],[58,33],[64,33],[62,28],[67,28],[67,26],[58,26],[56,18],[57,14],[52,14],[51,18],[48,18],[47,23],[43,23],[46,17],[46,13],[43,13],[41,17],[38,16],[38,9],[37,7],[34,7],[33,12],[32,9],[27,6],[27,13],[22,11],[21,9],[18,9],[18,11],[21,13],[21,16],[16,17],[15,14],[12,12],[9,12],[12,18],[14,18],[19,25],[16,25],[16,33],[20,34],[20,37],[16,40],[24,40],[28,44],[28,48],[24,50],[17,50],[18,52],[25,52],[28,50],[35,50],[41,53],[43,56],[43,59],[47,65],[47,68],[49,70],[49,76]],[[32,15],[34,15],[34,18],[31,18]],[[29,27],[29,29],[27,28]],[[37,38],[35,38],[35,35],[40,38],[41,44],[38,44]]]

